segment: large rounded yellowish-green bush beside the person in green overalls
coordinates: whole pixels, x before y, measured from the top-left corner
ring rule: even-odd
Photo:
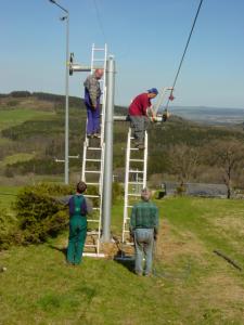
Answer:
[[[54,237],[68,223],[67,208],[59,196],[74,193],[72,186],[41,183],[25,187],[15,204],[22,244],[39,244]]]

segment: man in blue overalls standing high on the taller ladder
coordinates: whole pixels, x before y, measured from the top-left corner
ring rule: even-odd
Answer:
[[[84,82],[88,138],[99,138],[100,135],[100,96],[102,92],[99,80],[102,76],[103,69],[95,69]]]

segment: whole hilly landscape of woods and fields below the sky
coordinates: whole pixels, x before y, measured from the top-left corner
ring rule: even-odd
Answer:
[[[49,176],[62,177],[64,157],[65,98],[51,93],[12,92],[0,94],[0,182],[4,178]],[[234,141],[244,143],[242,120],[244,109],[210,107],[170,107],[171,117],[165,123],[151,123],[149,129],[149,178],[157,174],[178,180],[180,169],[197,159],[196,169],[189,167],[185,179],[197,182],[222,182],[216,161],[216,147]],[[115,107],[115,115],[126,115],[126,107]],[[82,143],[86,133],[86,107],[79,98],[69,99],[70,174],[80,173]],[[230,121],[231,118],[231,121]],[[230,125],[235,121],[240,126]],[[224,126],[223,123],[229,123]],[[114,172],[124,180],[125,150],[129,122],[114,123]],[[244,152],[244,151],[243,151]],[[194,159],[193,159],[194,158]],[[179,166],[177,162],[180,161]],[[189,162],[190,161],[190,162]],[[194,166],[195,166],[194,165]],[[140,170],[140,166],[134,166]],[[241,180],[240,171],[236,170]],[[239,181],[240,183],[240,181]],[[244,176],[243,176],[244,184]],[[244,186],[244,185],[243,185]]]

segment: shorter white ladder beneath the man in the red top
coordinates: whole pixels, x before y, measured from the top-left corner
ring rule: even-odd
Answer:
[[[144,135],[144,150],[139,150],[133,145],[131,129],[128,132],[126,150],[126,172],[125,172],[125,200],[123,221],[123,247],[121,255],[126,258],[127,248],[131,247],[129,223],[132,206],[141,197],[141,190],[146,186],[147,173],[147,132]],[[131,250],[131,249],[129,249]]]

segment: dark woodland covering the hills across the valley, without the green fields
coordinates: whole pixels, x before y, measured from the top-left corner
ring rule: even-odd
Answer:
[[[86,108],[78,98],[69,99],[69,154],[82,157]],[[1,121],[0,176],[14,181],[17,176],[63,173],[64,96],[41,92],[12,92],[0,95],[0,113],[36,110],[50,115],[21,123]],[[115,114],[125,115],[125,107]],[[23,113],[24,114],[24,113]],[[114,174],[124,179],[128,122],[114,122]],[[13,155],[29,155],[8,162]],[[3,161],[7,161],[3,164]],[[70,173],[80,171],[80,159],[70,159]],[[244,132],[240,127],[214,127],[171,116],[149,130],[149,178],[153,186],[164,180],[224,183],[244,188]]]

